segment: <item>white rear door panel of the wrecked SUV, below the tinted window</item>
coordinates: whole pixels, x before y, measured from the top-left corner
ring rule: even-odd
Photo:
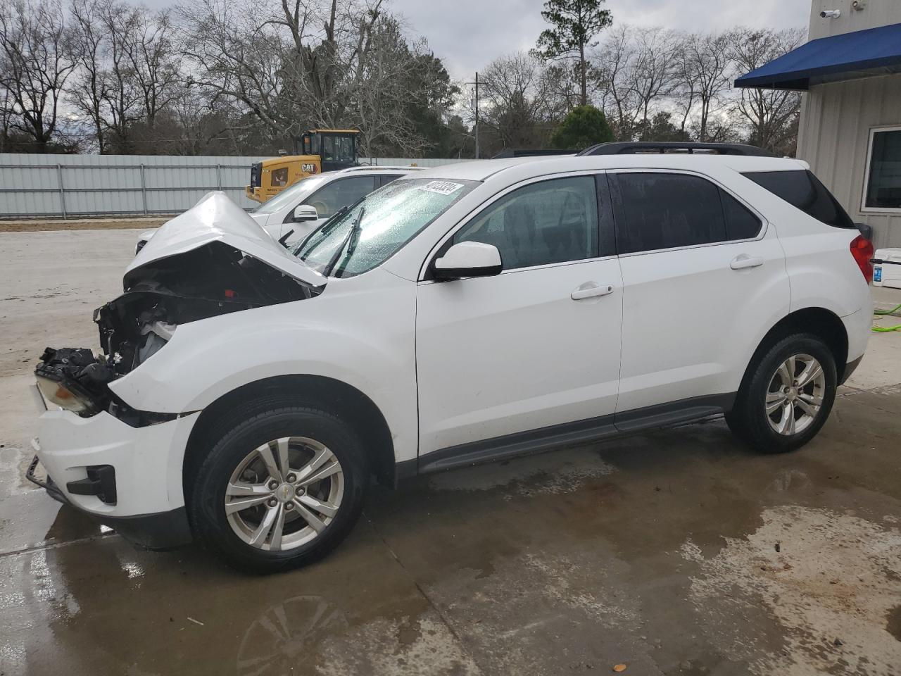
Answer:
[[[732,269],[739,256],[764,262]],[[788,276],[773,229],[757,241],[640,253],[621,261],[617,411],[735,392],[760,339],[788,314]]]

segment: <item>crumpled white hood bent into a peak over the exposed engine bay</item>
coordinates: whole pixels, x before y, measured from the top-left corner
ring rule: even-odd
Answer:
[[[160,226],[125,270],[125,278],[134,279],[132,273],[135,270],[158,260],[196,251],[211,242],[228,244],[314,287],[320,287],[326,281],[321,274],[288,253],[223,192],[207,193],[184,214]]]

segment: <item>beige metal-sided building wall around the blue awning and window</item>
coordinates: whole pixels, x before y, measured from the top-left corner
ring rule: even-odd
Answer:
[[[840,9],[838,19],[820,12]],[[901,23],[901,0],[867,0],[863,10],[851,0],[814,0],[810,39]],[[804,95],[797,157],[832,190],[855,221],[873,226],[877,248],[901,247],[901,214],[860,211],[867,173],[869,131],[901,126],[901,75],[816,85]]]

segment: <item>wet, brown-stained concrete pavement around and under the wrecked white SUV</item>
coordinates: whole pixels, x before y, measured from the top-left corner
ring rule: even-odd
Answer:
[[[323,562],[251,577],[23,479],[30,362],[96,343],[134,235],[39,236],[0,235],[4,676],[901,673],[901,334],[799,452],[714,422],[374,486]]]

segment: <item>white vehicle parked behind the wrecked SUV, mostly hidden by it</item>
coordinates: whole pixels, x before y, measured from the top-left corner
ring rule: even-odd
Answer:
[[[294,244],[342,207],[417,170],[416,167],[350,167],[308,176],[250,211],[250,218],[279,242]],[[156,232],[157,228],[153,228],[138,235],[136,255]]]

